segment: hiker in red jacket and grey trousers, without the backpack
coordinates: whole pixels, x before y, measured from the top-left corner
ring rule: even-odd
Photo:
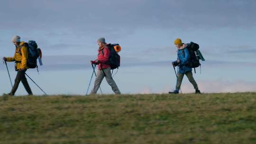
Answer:
[[[106,77],[106,81],[111,86],[112,90],[115,92],[115,94],[121,94],[116,82],[113,80],[111,72],[110,72],[110,65],[106,64],[109,61],[110,57],[110,50],[107,47],[107,44],[105,42],[105,38],[101,37],[98,39],[98,58],[95,61],[91,61],[92,64],[99,64],[97,76],[94,82],[94,87],[91,90],[91,94],[96,94],[100,85],[101,81],[104,77]]]

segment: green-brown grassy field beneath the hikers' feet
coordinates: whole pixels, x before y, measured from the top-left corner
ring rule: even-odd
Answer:
[[[256,93],[0,97],[0,144],[256,144]]]

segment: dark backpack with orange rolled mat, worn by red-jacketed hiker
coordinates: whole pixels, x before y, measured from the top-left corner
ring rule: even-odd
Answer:
[[[118,52],[121,51],[121,46],[119,44],[108,44],[107,47],[110,50],[110,57],[109,57],[109,61],[106,64],[110,65],[111,70],[119,68],[120,56]],[[104,55],[104,51],[101,51],[101,52]]]

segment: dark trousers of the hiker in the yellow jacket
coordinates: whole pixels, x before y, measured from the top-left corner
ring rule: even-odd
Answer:
[[[16,90],[18,89],[18,85],[19,85],[19,82],[21,81],[22,84],[24,85],[25,89],[27,90],[27,93],[29,95],[33,95],[32,94],[32,91],[27,83],[27,79],[26,79],[26,76],[25,76],[25,72],[27,70],[23,70],[23,71],[18,71],[17,75],[16,75],[16,78],[15,78],[15,83],[10,91],[10,95],[14,95]]]

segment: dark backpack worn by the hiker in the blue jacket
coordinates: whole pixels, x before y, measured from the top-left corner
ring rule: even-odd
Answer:
[[[187,66],[190,68],[194,68],[194,71],[195,71],[195,68],[201,66],[201,63],[199,60],[202,60],[202,61],[205,61],[205,60],[199,50],[198,44],[190,42],[187,48],[190,54],[189,63],[187,64]]]

